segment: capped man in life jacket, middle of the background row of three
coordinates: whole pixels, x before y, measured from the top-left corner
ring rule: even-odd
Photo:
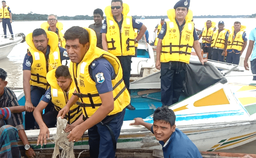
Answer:
[[[224,28],[224,22],[219,21],[217,30],[213,32],[211,37],[212,60],[224,62],[224,55],[227,49],[227,39],[229,38],[229,30]]]

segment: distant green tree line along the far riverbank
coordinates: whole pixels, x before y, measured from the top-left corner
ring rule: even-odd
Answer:
[[[36,13],[27,13],[27,14],[12,14],[12,20],[47,20],[48,15],[46,14],[36,14]],[[135,19],[140,19],[141,16],[132,16]],[[193,18],[255,18],[256,14],[252,15],[201,15],[193,16]],[[168,19],[167,16],[145,16],[145,19]],[[58,20],[93,20],[93,16],[89,15],[76,15],[76,16],[59,16]]]

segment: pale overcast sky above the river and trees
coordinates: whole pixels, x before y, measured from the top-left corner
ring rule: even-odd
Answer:
[[[11,12],[56,14],[57,16],[93,15],[96,8],[103,10],[111,0],[5,0]],[[178,0],[123,0],[130,7],[128,15],[167,15]],[[256,0],[191,0],[189,9],[200,15],[252,15],[256,13]],[[105,15],[105,13],[104,13]]]

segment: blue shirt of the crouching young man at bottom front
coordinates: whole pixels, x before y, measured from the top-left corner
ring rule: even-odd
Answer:
[[[153,126],[151,132],[154,134]],[[159,143],[164,146],[163,141]],[[199,150],[195,144],[188,138],[187,135],[182,133],[179,129],[175,129],[172,133],[169,142],[163,147],[164,158],[202,158]]]

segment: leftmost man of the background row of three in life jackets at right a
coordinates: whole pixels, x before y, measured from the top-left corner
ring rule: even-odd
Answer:
[[[198,36],[198,39],[200,39],[201,37],[203,38],[202,39],[202,49],[203,49],[204,53],[208,52],[208,59],[212,59],[211,37],[213,35],[213,32],[216,29],[215,25],[216,25],[215,22],[213,22],[211,20],[207,20],[203,30],[201,31],[200,35]]]

